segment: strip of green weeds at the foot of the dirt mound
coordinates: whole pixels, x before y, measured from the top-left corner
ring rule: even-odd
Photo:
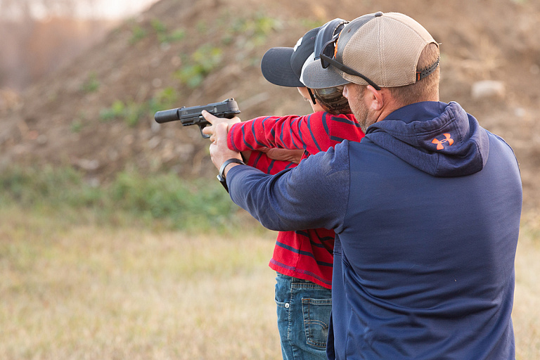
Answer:
[[[92,186],[72,168],[12,167],[0,174],[0,207],[58,214],[60,222],[147,226],[151,229],[229,232],[245,226],[218,181],[187,181],[176,174],[143,176],[120,172]],[[254,226],[255,227],[255,226]]]

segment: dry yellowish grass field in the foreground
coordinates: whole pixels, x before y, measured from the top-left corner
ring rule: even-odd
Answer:
[[[0,210],[0,359],[281,359],[274,234],[70,226]],[[539,217],[516,259],[517,359],[540,359]]]

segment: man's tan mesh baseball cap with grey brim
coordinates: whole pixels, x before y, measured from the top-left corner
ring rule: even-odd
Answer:
[[[407,15],[364,15],[347,24],[336,41],[328,42],[319,54],[321,61],[304,67],[302,81],[311,89],[349,82],[375,89],[413,84],[439,65],[437,60],[428,70],[416,71],[420,53],[430,43],[437,41]]]

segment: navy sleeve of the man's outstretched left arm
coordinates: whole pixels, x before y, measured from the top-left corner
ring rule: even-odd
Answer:
[[[232,167],[227,174],[231,199],[271,230],[340,231],[349,193],[348,149],[344,141],[274,176]]]

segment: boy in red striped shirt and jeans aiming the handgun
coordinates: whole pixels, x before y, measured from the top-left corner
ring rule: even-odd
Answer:
[[[262,58],[264,77],[279,86],[297,87],[314,113],[256,117],[246,122],[203,113],[212,124],[229,123],[229,148],[242,152],[248,158],[246,165],[277,174],[296,164],[272,160],[265,153],[268,149],[301,150],[302,161],[344,139],[360,141],[364,136],[342,96],[342,87],[311,91],[300,81],[304,65],[313,61],[321,45],[339,34],[346,23],[332,20],[304,34],[294,48],[272,48]],[[212,134],[212,128],[203,132]],[[328,229],[278,233],[269,266],[277,273],[278,329],[284,360],[297,359],[293,352],[302,352],[302,359],[326,359],[334,237],[334,231]]]

